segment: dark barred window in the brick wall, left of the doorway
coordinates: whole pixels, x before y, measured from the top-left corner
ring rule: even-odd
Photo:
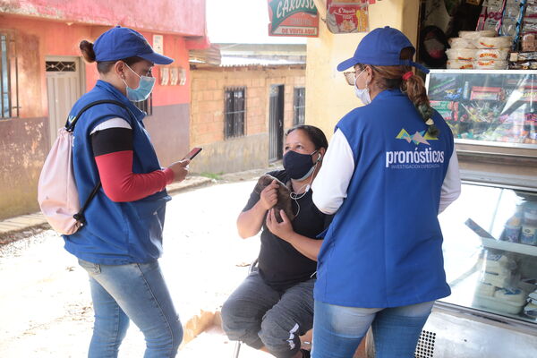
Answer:
[[[235,138],[244,135],[245,88],[226,89],[226,122],[224,137]]]

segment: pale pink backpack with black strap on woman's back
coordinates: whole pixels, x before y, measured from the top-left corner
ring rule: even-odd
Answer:
[[[86,110],[103,103],[120,107],[125,105],[115,100],[98,100],[83,107],[72,120],[68,120],[64,128],[58,131],[52,149],[41,169],[38,183],[38,202],[41,212],[48,224],[60,234],[74,234],[86,223],[84,210],[100,189],[100,180],[81,207],[78,189],[72,173],[72,141],[74,125]]]

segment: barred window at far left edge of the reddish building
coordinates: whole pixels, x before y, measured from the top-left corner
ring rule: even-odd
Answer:
[[[9,33],[0,32],[0,119],[19,116],[17,90],[15,40]]]

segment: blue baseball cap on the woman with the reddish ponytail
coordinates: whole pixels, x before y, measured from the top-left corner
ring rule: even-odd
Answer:
[[[362,38],[354,51],[354,56],[337,65],[337,71],[345,71],[355,64],[371,64],[374,66],[407,65],[429,73],[429,70],[422,64],[399,58],[401,50],[406,47],[411,47],[415,54],[416,49],[403,32],[389,26],[372,30]]]

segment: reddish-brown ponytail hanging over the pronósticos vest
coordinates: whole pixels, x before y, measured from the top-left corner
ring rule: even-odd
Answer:
[[[407,79],[401,82],[401,90],[410,98],[414,107],[416,107],[418,113],[422,116],[423,122],[427,124],[427,132],[432,137],[437,137],[440,131],[432,120],[434,110],[430,107],[430,101],[427,97],[427,91],[425,90],[422,78],[415,74],[408,76]]]

